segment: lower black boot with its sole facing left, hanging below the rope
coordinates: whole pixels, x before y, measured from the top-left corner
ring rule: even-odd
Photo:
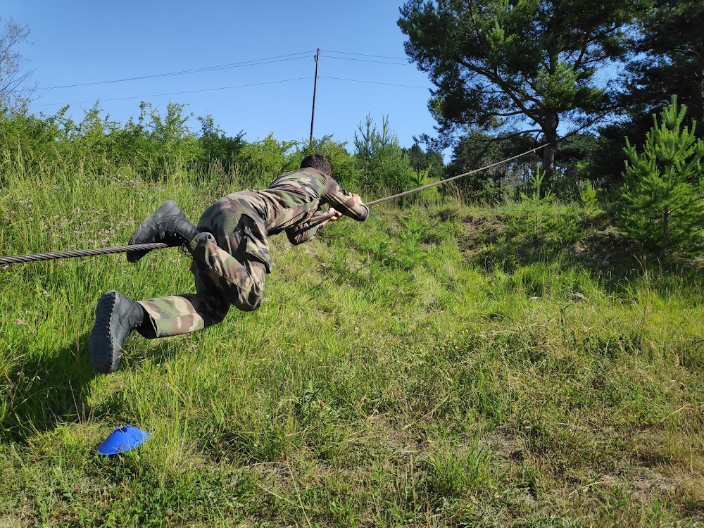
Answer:
[[[132,330],[144,322],[144,308],[119,291],[108,291],[98,300],[95,325],[88,339],[90,362],[98,372],[115,372],[122,345]]]

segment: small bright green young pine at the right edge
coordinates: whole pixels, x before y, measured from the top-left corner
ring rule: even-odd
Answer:
[[[622,227],[649,251],[696,253],[704,248],[704,142],[693,123],[682,127],[686,106],[677,96],[646,135],[643,152],[626,139]]]

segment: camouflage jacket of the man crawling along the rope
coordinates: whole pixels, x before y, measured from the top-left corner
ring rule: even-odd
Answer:
[[[228,194],[203,216],[210,225],[222,225],[226,220],[222,217],[227,216],[225,224],[236,222],[241,226],[240,236],[246,239],[246,249],[241,250],[271,272],[268,236],[285,231],[291,244],[312,239],[321,227],[314,224],[325,214],[325,210],[321,210],[323,204],[359,221],[369,215],[369,208],[358,203],[332,177],[305,168],[282,174],[267,189]],[[233,218],[234,214],[237,219]]]

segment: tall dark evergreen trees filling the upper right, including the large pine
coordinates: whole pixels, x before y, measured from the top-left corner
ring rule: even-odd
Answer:
[[[437,134],[422,139],[453,149],[448,175],[546,144],[492,183],[541,163],[558,193],[619,189],[625,138],[643,144],[672,96],[704,137],[700,0],[408,0],[398,25],[436,86]]]

